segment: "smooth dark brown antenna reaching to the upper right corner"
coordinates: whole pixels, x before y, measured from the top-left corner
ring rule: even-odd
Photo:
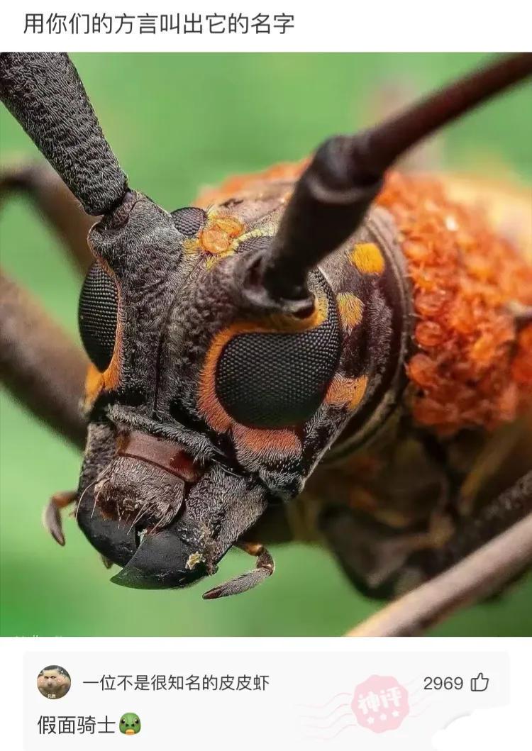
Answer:
[[[397,116],[319,146],[298,179],[270,248],[250,257],[241,289],[252,306],[308,312],[307,275],[361,224],[388,167],[438,128],[532,74],[532,53],[503,56]]]

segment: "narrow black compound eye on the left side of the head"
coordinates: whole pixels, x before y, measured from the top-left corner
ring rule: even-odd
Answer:
[[[92,264],[81,288],[77,321],[86,353],[101,372],[113,357],[117,311],[116,284],[100,264]]]

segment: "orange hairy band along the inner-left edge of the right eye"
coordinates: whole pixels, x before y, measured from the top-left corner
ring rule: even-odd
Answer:
[[[207,422],[214,430],[225,433],[234,420],[225,412],[216,396],[216,366],[225,345],[234,336],[242,333],[297,333],[322,324],[327,317],[327,297],[316,297],[314,310],[307,318],[295,315],[269,315],[256,321],[237,321],[214,336],[201,370],[198,388],[198,406]]]

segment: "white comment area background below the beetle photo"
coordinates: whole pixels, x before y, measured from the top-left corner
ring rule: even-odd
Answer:
[[[286,659],[283,659],[283,653]],[[313,655],[319,656],[318,659],[314,659]],[[527,727],[530,723],[531,656],[530,640],[522,638],[4,638],[3,678],[0,681],[2,745],[8,741],[4,747],[10,751],[34,751],[38,748],[46,751],[50,747],[72,751],[115,748],[119,742],[124,742],[120,734],[101,736],[100,742],[98,736],[92,739],[63,737],[59,739],[61,743],[52,746],[45,742],[50,738],[42,738],[43,743],[24,746],[23,728],[26,723],[25,729],[29,731],[26,735],[35,740],[35,722],[41,711],[51,715],[97,713],[98,717],[108,713],[111,719],[118,719],[122,712],[135,711],[141,719],[144,715],[143,731],[135,739],[139,749],[159,747],[161,740],[175,740],[176,747],[201,748],[202,738],[208,738],[208,746],[211,747],[212,737],[216,737],[220,740],[221,748],[225,748],[229,742],[236,747],[246,745],[249,738],[255,751],[265,751],[276,744],[284,747],[283,738],[289,740],[286,747],[291,751],[313,751],[318,748],[325,751],[351,748],[364,751],[393,748],[394,751],[402,751],[403,747],[404,751],[428,751],[431,747],[437,751],[461,751],[473,747],[482,751],[500,751],[502,743],[509,744],[512,751],[524,751],[530,747]],[[44,667],[41,665],[43,660],[47,664],[63,662],[63,666],[71,671],[73,689],[69,694],[70,699],[67,695],[59,701],[48,701],[38,695],[35,684],[38,669],[35,670],[35,665]],[[241,697],[236,693],[230,700],[222,697],[222,702],[229,702],[225,704],[227,713],[220,710],[218,698],[214,700],[212,695],[207,698],[207,695],[198,693],[193,698],[183,692],[165,695],[159,704],[153,692],[130,691],[127,695],[119,695],[101,692],[98,686],[83,686],[83,691],[74,692],[74,682],[80,689],[83,680],[100,677],[104,663],[108,665],[105,672],[109,674],[119,674],[119,668],[127,668],[125,672],[134,675],[137,671],[150,673],[152,666],[154,673],[180,674],[182,667],[183,673],[187,674],[193,665],[193,672],[201,676],[229,668],[232,670],[234,665],[235,674],[242,671],[271,674],[271,690],[256,698],[250,695]],[[346,668],[346,665],[350,667]],[[483,667],[485,665],[487,667]],[[331,692],[352,691],[358,680],[364,680],[373,670],[377,674],[396,672],[399,677],[408,679],[448,670],[450,674],[462,672],[467,678],[477,668],[491,673],[493,680],[494,676],[499,676],[497,690],[485,697],[473,695],[474,701],[467,692],[455,695],[452,697],[455,703],[448,712],[438,714],[439,724],[431,726],[432,731],[428,736],[421,732],[421,720],[412,720],[410,724],[405,721],[401,731],[379,737],[365,729],[355,728],[331,742],[309,742],[296,727],[293,707],[310,704],[310,701],[325,704],[330,700]],[[312,676],[311,681],[308,675]],[[509,692],[506,684],[508,675]],[[307,676],[305,682],[302,682],[302,676]],[[353,686],[349,685],[346,677],[352,677]],[[282,704],[278,701],[280,696],[283,697]],[[83,701],[78,701],[79,698],[83,698]],[[479,701],[476,701],[477,698]],[[431,695],[430,700],[434,705],[434,702],[444,702],[447,698]],[[162,713],[160,707],[163,704],[167,711]],[[259,715],[256,714],[258,706],[261,707]],[[468,712],[473,714],[462,716]],[[162,728],[158,726],[161,714],[168,718],[168,725],[165,727],[163,724]],[[256,728],[254,737],[249,737],[249,728],[252,731],[254,727],[249,719],[253,719],[253,716],[255,723],[259,716],[262,728]],[[445,729],[446,724],[449,726]],[[422,740],[423,737],[425,740]],[[394,739],[399,745],[394,743]],[[428,745],[430,742],[432,746]]]

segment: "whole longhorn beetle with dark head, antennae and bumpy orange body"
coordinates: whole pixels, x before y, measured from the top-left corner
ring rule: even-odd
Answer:
[[[122,567],[117,584],[183,587],[232,546],[256,556],[214,599],[271,575],[264,542],[319,539],[387,598],[530,513],[527,198],[391,167],[524,79],[532,56],[171,213],[128,187],[68,56],[0,60],[2,101],[84,212],[32,170],[4,187],[41,191],[50,214],[62,201],[71,216],[55,220],[78,248],[87,215],[99,218],[79,307],[85,417],[69,376],[80,360],[60,339],[10,340],[3,362],[35,412],[75,441],[86,433],[78,489],[44,512],[59,543],[74,503],[106,565]],[[511,239],[510,200],[524,204]],[[27,333],[31,312],[2,287],[5,321]]]

